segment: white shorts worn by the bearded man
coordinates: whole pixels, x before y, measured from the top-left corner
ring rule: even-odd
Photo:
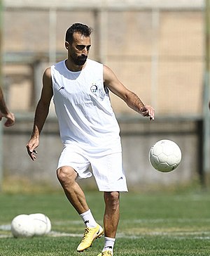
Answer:
[[[127,191],[121,152],[95,156],[77,146],[67,145],[59,157],[57,169],[62,166],[75,169],[78,179],[86,179],[93,174],[99,191]]]

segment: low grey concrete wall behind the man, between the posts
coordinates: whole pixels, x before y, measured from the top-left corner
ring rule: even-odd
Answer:
[[[195,120],[156,120],[143,117],[120,120],[123,163],[130,189],[151,186],[179,186],[199,177],[200,139]],[[36,161],[27,155],[25,144],[30,138],[32,122],[19,121],[3,136],[3,169],[6,179],[29,180],[31,184],[45,184],[55,188],[59,182],[55,174],[62,143],[59,140],[57,121],[48,119],[41,134]],[[183,159],[171,173],[156,171],[148,162],[148,151],[159,139],[172,139],[179,144]],[[83,184],[94,187],[94,179]]]

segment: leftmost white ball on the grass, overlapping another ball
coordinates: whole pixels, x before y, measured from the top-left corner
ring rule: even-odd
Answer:
[[[11,222],[11,232],[15,238],[34,236],[34,225],[29,215],[18,215]]]

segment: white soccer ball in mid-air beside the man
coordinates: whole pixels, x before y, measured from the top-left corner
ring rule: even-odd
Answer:
[[[162,139],[149,151],[151,165],[160,172],[172,172],[181,162],[181,149],[174,142]]]

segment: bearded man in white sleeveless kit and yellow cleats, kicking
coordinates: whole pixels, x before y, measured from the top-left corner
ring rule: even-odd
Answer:
[[[53,96],[64,144],[57,165],[57,178],[86,226],[77,250],[86,250],[94,239],[104,233],[104,248],[99,255],[112,256],[120,215],[120,191],[127,191],[127,184],[120,129],[111,108],[109,90],[144,117],[154,120],[154,110],[126,89],[110,68],[87,59],[91,32],[87,25],[71,25],[66,31],[65,41],[68,58],[45,70],[27,151],[30,158],[35,160],[35,149]],[[95,221],[85,194],[76,182],[76,179],[88,178],[92,174],[99,191],[104,192],[104,230]]]

